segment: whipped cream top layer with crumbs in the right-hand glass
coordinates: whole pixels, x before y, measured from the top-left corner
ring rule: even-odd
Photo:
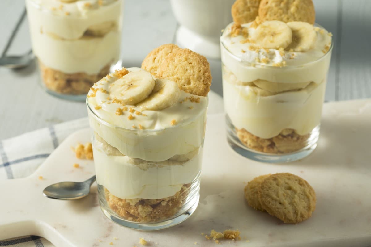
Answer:
[[[256,31],[252,23],[243,24],[248,36],[243,33],[233,36],[229,24],[220,37],[223,64],[233,72],[239,81],[252,82],[267,80],[277,83],[302,83],[313,81],[317,84],[327,75],[331,59],[331,34],[315,27],[317,34],[313,49],[295,52],[283,49],[260,49],[250,36]],[[315,73],[313,73],[315,71]]]

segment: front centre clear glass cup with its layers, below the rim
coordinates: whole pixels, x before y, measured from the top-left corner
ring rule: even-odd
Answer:
[[[88,100],[86,104],[104,214],[138,230],[164,229],[186,220],[199,200],[206,109],[190,122],[141,130],[107,123]],[[176,154],[183,141],[192,148]]]

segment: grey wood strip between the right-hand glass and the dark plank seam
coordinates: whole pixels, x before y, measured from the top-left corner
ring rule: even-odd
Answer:
[[[313,3],[316,10],[316,23],[333,34],[332,42],[334,43],[334,48],[332,50],[331,64],[328,73],[325,101],[334,101],[336,100],[336,53],[338,49],[338,47],[336,47],[336,41],[338,39],[338,0],[313,0]]]

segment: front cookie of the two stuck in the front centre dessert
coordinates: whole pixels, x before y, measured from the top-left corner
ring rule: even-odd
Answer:
[[[162,61],[159,76],[175,81],[181,90],[198,96],[209,93],[213,78],[206,57],[188,49],[173,49]]]

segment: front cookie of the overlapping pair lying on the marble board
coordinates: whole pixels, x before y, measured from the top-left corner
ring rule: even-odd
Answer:
[[[316,194],[307,181],[291,173],[267,177],[258,190],[262,208],[285,223],[299,223],[312,216]]]

